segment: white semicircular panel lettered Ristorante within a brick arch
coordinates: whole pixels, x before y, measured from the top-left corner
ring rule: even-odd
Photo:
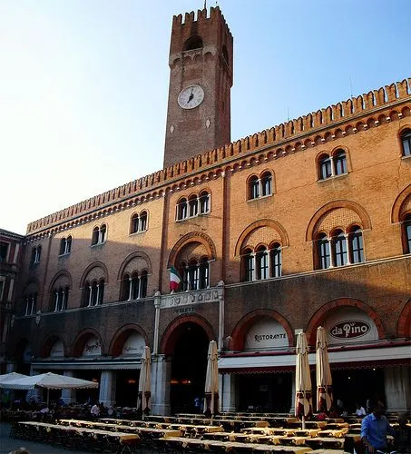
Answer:
[[[250,326],[244,342],[244,350],[273,350],[289,347],[289,336],[276,320],[260,319]]]

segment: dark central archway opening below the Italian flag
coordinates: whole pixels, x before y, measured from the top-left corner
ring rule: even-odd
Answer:
[[[194,399],[204,397],[209,339],[192,321],[176,328],[171,362],[171,413],[194,411]]]

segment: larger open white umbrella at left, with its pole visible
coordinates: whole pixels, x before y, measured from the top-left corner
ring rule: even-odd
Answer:
[[[0,382],[0,388],[11,390],[34,390],[34,388],[45,388],[47,390],[47,405],[49,402],[49,390],[69,390],[82,388],[98,388],[95,381],[75,379],[66,375],[59,375],[53,372],[32,375],[24,379],[15,379]]]

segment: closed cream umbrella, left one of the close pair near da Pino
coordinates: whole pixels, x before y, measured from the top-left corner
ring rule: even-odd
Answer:
[[[312,412],[311,377],[309,375],[308,345],[304,332],[297,336],[296,359],[296,416],[302,419],[302,429],[306,429],[306,416]]]

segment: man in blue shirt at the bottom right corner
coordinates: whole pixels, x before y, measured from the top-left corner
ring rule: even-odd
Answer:
[[[387,435],[395,435],[388,419],[384,416],[386,409],[380,401],[372,407],[372,413],[361,422],[361,439],[367,452],[374,454],[377,450],[387,451]]]

